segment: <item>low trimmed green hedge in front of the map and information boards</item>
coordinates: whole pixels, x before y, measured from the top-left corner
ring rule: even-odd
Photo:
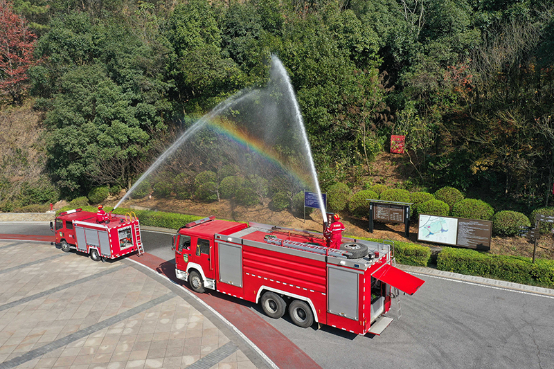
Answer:
[[[530,258],[444,247],[438,254],[437,269],[525,285],[554,287],[554,260],[535,260],[533,264]]]

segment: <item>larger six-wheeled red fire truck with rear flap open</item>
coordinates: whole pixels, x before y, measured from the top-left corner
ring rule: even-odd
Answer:
[[[391,244],[342,241],[330,249],[321,233],[207,217],[175,235],[175,272],[198,293],[214,289],[260,303],[271,318],[288,310],[300,327],[381,334],[393,321],[384,316],[391,298],[398,290],[413,294],[424,281],[394,266]]]

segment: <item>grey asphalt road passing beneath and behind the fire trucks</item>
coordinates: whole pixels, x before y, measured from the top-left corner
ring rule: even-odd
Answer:
[[[48,226],[1,224],[0,233],[51,235]],[[174,258],[172,234],[143,231],[145,251]],[[322,368],[554,368],[554,298],[474,282],[418,275],[426,281],[400,296],[382,336],[358,336],[332,327],[303,329],[287,315],[271,319]],[[241,301],[244,305],[244,301]]]

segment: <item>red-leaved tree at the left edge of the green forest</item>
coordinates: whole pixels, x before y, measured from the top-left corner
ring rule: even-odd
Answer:
[[[37,64],[36,39],[25,20],[12,11],[12,4],[0,0],[0,93],[10,96],[14,105],[21,103],[28,69]]]

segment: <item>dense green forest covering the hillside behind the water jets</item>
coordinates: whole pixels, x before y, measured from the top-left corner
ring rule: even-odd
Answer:
[[[19,37],[33,52],[29,60],[20,46],[26,78],[17,90],[0,69],[1,96],[4,106],[35,99],[48,176],[71,199],[100,185],[128,188],[177,132],[262,86],[275,54],[323,188],[359,185],[391,134],[403,134],[413,186],[546,206],[554,182],[546,4],[0,0],[1,15],[17,15],[3,17],[17,32],[1,33],[2,45]],[[0,62],[15,57],[0,53]]]

